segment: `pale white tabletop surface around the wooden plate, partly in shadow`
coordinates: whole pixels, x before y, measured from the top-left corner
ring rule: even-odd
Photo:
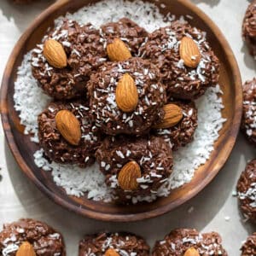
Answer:
[[[170,0],[172,1],[172,0]],[[0,0],[0,78],[15,42],[32,20],[45,9],[50,1],[42,0],[29,7],[15,6],[10,0]],[[242,80],[255,76],[256,61],[247,54],[241,40],[241,22],[247,0],[193,0],[210,15],[234,50],[241,68]],[[193,200],[160,218],[133,224],[112,224],[82,218],[49,201],[20,172],[4,141],[0,126],[0,166],[3,176],[0,182],[0,226],[17,218],[38,218],[60,230],[67,242],[67,255],[77,255],[79,239],[84,234],[99,230],[126,230],[144,236],[150,244],[165,236],[176,227],[196,228],[202,231],[218,231],[224,239],[229,255],[240,255],[241,242],[255,225],[243,223],[236,198],[232,196],[236,180],[247,160],[255,156],[255,149],[247,144],[242,135],[218,177]],[[194,211],[189,211],[194,209]],[[190,213],[189,213],[190,212]]]

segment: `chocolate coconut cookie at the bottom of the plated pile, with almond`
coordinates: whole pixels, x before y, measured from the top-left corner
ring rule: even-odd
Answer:
[[[96,160],[120,202],[155,195],[172,173],[172,149],[160,137],[108,137]]]

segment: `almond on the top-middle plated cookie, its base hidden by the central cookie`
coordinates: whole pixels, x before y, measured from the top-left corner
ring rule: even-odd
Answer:
[[[107,45],[110,61],[126,61],[131,58],[131,51],[119,38],[114,38],[113,43]]]

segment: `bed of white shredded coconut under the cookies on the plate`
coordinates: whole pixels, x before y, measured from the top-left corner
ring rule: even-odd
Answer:
[[[160,8],[165,8],[161,5]],[[92,23],[96,28],[102,23],[117,21],[122,17],[130,18],[143,26],[148,32],[153,32],[161,26],[167,26],[175,19],[174,15],[160,15],[160,10],[151,3],[135,1],[133,3],[123,0],[109,0],[79,9],[73,15],[67,14],[67,19],[76,20],[80,24]],[[185,17],[191,19],[192,17]],[[60,26],[63,17],[55,20],[55,26]],[[181,17],[180,20],[184,20]],[[51,101],[42,89],[38,87],[37,80],[32,76],[32,51],[24,56],[18,69],[15,82],[15,109],[19,112],[20,123],[25,125],[25,134],[33,134],[32,142],[38,143],[38,114],[41,113]],[[214,142],[218,139],[218,131],[223,127],[226,119],[222,118],[221,110],[224,108],[221,98],[222,91],[219,85],[211,87],[204,96],[195,101],[198,109],[198,127],[195,131],[194,141],[183,148],[173,152],[173,172],[166,179],[154,195],[137,196],[137,201],[154,201],[157,197],[167,196],[172,189],[189,183],[194,177],[196,169],[209,159]],[[98,164],[86,167],[61,165],[49,163],[44,158],[41,148],[34,153],[34,160],[39,168],[51,172],[56,185],[66,190],[67,195],[84,196],[94,201],[112,201],[111,189],[105,184],[105,177],[100,172]]]

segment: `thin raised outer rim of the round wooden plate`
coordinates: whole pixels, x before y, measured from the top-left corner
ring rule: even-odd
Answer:
[[[147,0],[146,0],[147,1]],[[38,17],[32,21],[32,24],[26,29],[26,31],[21,35],[18,42],[15,44],[15,48],[13,49],[11,55],[9,55],[9,61],[7,62],[7,65],[5,67],[4,73],[3,73],[3,80],[2,80],[2,86],[0,90],[0,111],[2,116],[2,124],[3,124],[3,131],[7,140],[7,143],[9,144],[9,148],[12,152],[12,154],[15,157],[16,162],[18,163],[21,171],[26,174],[27,177],[29,177],[33,183],[36,184],[38,189],[40,189],[45,195],[49,197],[52,201],[55,201],[58,205],[61,207],[64,207],[72,212],[76,212],[79,215],[82,215],[84,217],[94,218],[97,220],[102,221],[111,221],[111,222],[133,222],[133,221],[139,221],[143,219],[148,218],[155,218],[157,216],[163,215],[167,212],[172,211],[174,208],[182,205],[184,202],[189,201],[192,197],[197,195],[201,192],[202,189],[204,189],[208,183],[210,183],[213,179],[213,177],[216,177],[218,172],[223,168],[226,160],[228,160],[230,153],[232,149],[235,146],[236,143],[236,137],[239,132],[239,125],[240,121],[238,122],[238,125],[232,125],[229,129],[230,134],[234,137],[234,140],[230,142],[229,149],[225,152],[222,162],[218,167],[216,168],[216,171],[212,173],[211,175],[207,175],[205,177],[204,183],[196,186],[196,189],[192,189],[190,191],[189,195],[187,195],[185,198],[184,196],[180,198],[176,202],[172,202],[172,204],[167,204],[166,206],[162,206],[160,208],[156,208],[153,210],[150,210],[148,212],[138,212],[138,213],[130,213],[130,214],[118,214],[118,213],[106,213],[106,212],[95,212],[91,209],[85,209],[78,206],[73,205],[72,202],[65,201],[65,199],[61,198],[59,195],[55,195],[50,189],[44,186],[44,183],[41,183],[38,178],[33,174],[31,168],[26,165],[26,161],[23,159],[23,157],[20,154],[20,151],[15,143],[15,137],[11,131],[11,125],[9,124],[9,110],[8,110],[8,104],[7,104],[7,97],[8,97],[8,84],[9,79],[11,76],[11,72],[13,70],[14,64],[15,64],[15,55],[18,55],[24,44],[26,43],[26,40],[30,37],[32,32],[38,27],[38,25],[43,22],[49,15],[55,13],[56,9],[60,8],[61,6],[66,5],[69,3],[70,0],[59,0],[56,3],[53,3],[49,6],[48,9],[45,9]],[[236,61],[236,57],[230,48],[230,44],[228,41],[224,38],[223,33],[220,31],[217,25],[198,7],[195,6],[194,3],[189,2],[188,0],[177,0],[178,3],[183,4],[188,9],[191,9],[196,15],[199,15],[202,20],[204,20],[207,23],[207,26],[210,27],[212,30],[212,33],[218,37],[219,43],[224,47],[226,55],[230,57],[230,68],[234,76],[236,76],[236,83],[234,84],[235,90],[236,90],[236,96],[241,95],[241,74],[239,71],[239,67]],[[242,97],[238,98],[238,101],[235,102],[235,107],[239,107],[242,105]],[[234,119],[241,120],[241,108],[237,108],[238,111],[236,111]]]

